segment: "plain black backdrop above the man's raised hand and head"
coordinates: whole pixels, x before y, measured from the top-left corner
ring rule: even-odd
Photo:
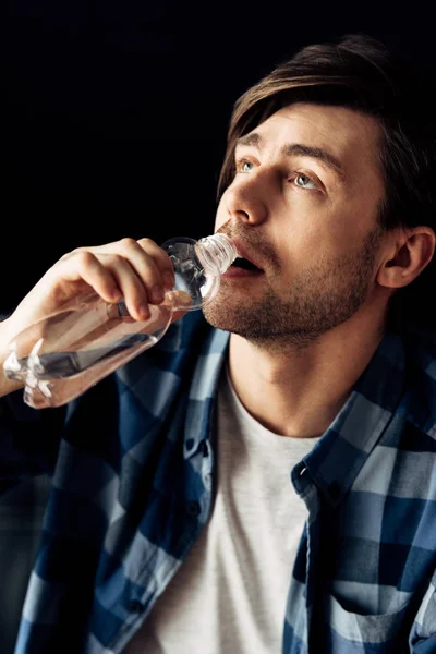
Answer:
[[[238,96],[301,47],[348,33],[434,66],[428,11],[393,2],[11,2],[0,310],[73,247],[210,233]]]

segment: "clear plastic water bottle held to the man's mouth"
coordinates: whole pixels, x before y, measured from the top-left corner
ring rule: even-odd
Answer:
[[[78,296],[73,307],[20,332],[3,364],[9,379],[24,383],[24,401],[34,409],[60,407],[77,398],[111,372],[152,348],[167,331],[175,311],[195,311],[210,302],[220,276],[238,257],[225,234],[195,241],[170,239],[175,284],[150,317],[130,317],[123,302],[108,304],[97,294]]]

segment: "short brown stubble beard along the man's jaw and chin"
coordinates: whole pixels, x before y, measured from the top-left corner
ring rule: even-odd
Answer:
[[[232,280],[222,280],[215,300],[203,310],[206,320],[219,329],[238,334],[268,351],[304,350],[323,334],[351,318],[367,299],[380,242],[376,227],[358,252],[336,259],[318,261],[279,293],[268,279],[262,299],[232,291]],[[276,276],[275,276],[276,277]]]

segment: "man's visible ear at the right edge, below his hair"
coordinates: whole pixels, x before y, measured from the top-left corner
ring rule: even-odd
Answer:
[[[408,228],[395,238],[377,272],[377,282],[400,289],[411,283],[433,258],[436,234],[431,227]]]

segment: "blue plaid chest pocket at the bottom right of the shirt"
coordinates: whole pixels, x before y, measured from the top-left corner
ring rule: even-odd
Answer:
[[[362,652],[362,643],[372,645],[374,653],[409,652],[409,608],[410,602],[405,602],[392,613],[363,615],[347,610],[334,595],[327,594],[324,617],[330,631],[331,652]]]

